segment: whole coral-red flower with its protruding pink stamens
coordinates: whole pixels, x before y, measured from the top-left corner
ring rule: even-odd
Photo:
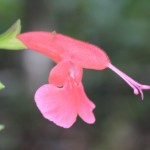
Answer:
[[[150,86],[142,85],[113,66],[99,47],[55,32],[28,32],[18,36],[29,49],[43,53],[57,64],[50,73],[49,84],[40,87],[35,101],[43,116],[59,126],[68,128],[79,115],[85,122],[94,123],[95,105],[87,98],[82,68],[102,70],[110,68],[133,90],[141,94]]]

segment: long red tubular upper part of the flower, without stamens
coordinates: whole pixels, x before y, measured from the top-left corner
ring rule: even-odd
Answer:
[[[26,32],[17,36],[29,49],[55,62],[70,59],[81,68],[102,70],[110,60],[99,47],[56,32]]]

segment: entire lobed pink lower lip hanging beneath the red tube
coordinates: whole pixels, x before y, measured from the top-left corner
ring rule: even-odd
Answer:
[[[62,76],[61,76],[61,75]],[[77,114],[89,124],[95,122],[94,103],[85,94],[82,69],[71,61],[60,62],[50,73],[49,82],[35,94],[36,104],[45,118],[58,126],[69,128]],[[59,86],[63,86],[59,88]]]

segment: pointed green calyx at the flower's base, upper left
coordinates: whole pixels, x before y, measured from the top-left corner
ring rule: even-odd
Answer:
[[[22,50],[26,46],[16,38],[21,32],[20,20],[17,20],[5,33],[0,35],[0,49]]]

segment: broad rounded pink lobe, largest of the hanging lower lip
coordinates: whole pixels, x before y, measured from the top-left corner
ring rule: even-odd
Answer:
[[[58,126],[69,128],[76,121],[76,100],[66,87],[43,85],[37,90],[35,101],[43,116]]]

